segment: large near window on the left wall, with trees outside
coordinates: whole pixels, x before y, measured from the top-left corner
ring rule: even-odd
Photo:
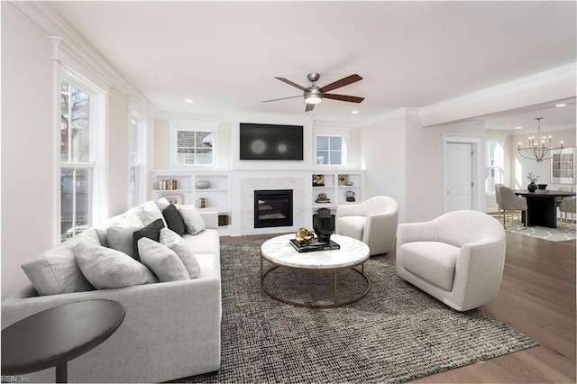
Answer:
[[[92,224],[94,161],[90,94],[68,81],[60,86],[60,238]]]

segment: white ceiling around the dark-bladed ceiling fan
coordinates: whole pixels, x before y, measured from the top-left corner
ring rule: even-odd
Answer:
[[[577,61],[573,1],[48,5],[162,112],[358,123]],[[361,81],[333,93],[365,100],[325,99],[308,114],[301,98],[261,103],[301,94],[274,77],[307,87],[309,72],[321,74],[320,87],[358,73]],[[574,126],[574,99],[571,108]],[[492,128],[519,124],[503,119]]]

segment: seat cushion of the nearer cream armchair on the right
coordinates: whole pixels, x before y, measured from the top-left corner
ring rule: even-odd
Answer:
[[[421,279],[450,291],[460,251],[445,242],[407,242],[400,246],[400,262]]]

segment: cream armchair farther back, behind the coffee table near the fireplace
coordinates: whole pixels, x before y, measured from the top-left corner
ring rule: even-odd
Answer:
[[[371,255],[394,248],[397,224],[398,204],[391,197],[371,197],[359,204],[336,207],[335,233],[364,242]]]

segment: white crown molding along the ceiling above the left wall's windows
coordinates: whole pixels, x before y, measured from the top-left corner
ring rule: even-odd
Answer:
[[[48,5],[35,1],[11,1],[10,4],[47,32],[52,40],[61,39],[60,49],[90,70],[99,81],[108,87],[116,87],[124,95],[129,96],[135,104],[139,105],[141,113],[154,114],[156,111],[154,105],[137,88],[128,83],[100,52],[70,28]]]

